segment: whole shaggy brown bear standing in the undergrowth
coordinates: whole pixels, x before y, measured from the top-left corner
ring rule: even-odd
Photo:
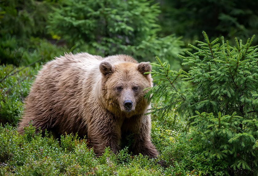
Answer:
[[[88,53],[65,54],[39,71],[25,100],[18,132],[33,126],[57,134],[87,135],[97,155],[111,147],[116,153],[123,136],[133,134],[129,150],[150,157],[158,152],[151,143],[151,119],[143,89],[152,86],[151,65],[130,56],[102,58]]]

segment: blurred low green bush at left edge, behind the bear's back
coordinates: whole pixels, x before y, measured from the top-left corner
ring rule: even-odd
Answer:
[[[30,37],[26,46],[21,45],[15,36],[0,37],[0,63],[29,65],[35,61],[47,62],[54,57],[69,52],[66,46],[51,44],[46,39]]]

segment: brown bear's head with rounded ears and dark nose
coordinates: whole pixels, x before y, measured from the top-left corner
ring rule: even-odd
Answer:
[[[121,62],[111,64],[108,61],[100,63],[103,75],[101,94],[104,106],[117,114],[130,117],[144,113],[148,107],[144,99],[145,88],[152,87],[151,65],[148,62]]]

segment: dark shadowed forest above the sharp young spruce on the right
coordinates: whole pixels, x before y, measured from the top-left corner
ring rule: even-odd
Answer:
[[[202,41],[201,31],[210,36],[223,35],[231,44],[234,38],[247,38],[258,33],[257,1],[253,0],[157,0],[162,13],[161,34],[183,35],[184,41]],[[253,41],[258,44],[258,38]]]

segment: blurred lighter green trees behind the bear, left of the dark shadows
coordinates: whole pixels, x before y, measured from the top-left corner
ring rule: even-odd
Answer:
[[[4,0],[0,11],[1,64],[28,65],[82,51],[129,54],[139,61],[158,55],[180,67],[174,58],[184,43],[175,35],[157,35],[161,11],[146,0]]]

